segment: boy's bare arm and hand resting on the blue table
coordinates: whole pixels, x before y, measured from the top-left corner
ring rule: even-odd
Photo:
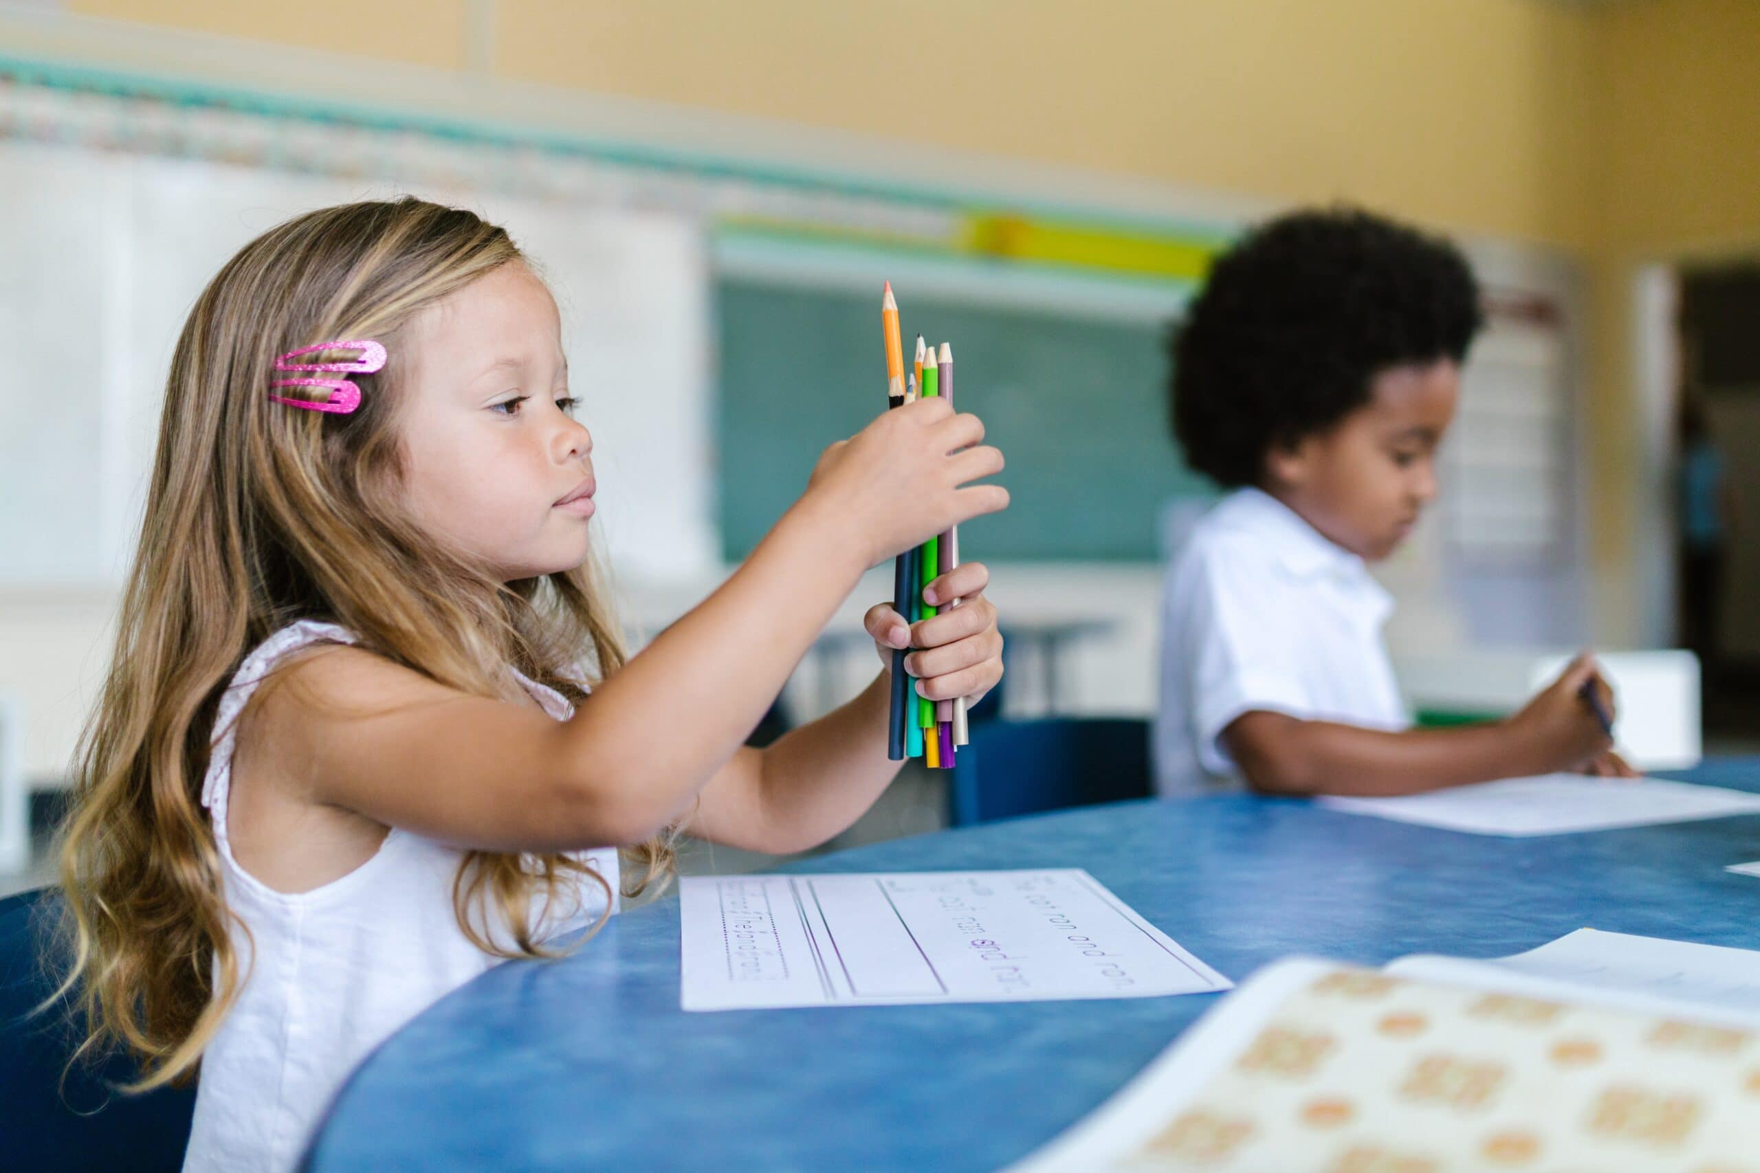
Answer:
[[[1612,740],[1579,695],[1589,681],[1610,707],[1595,661],[1582,656],[1507,721],[1383,732],[1255,710],[1228,725],[1221,740],[1248,784],[1274,795],[1412,795],[1552,774],[1596,758],[1609,772],[1632,776],[1607,753]]]

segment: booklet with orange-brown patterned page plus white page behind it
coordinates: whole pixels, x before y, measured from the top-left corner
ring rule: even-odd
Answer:
[[[1290,958],[1008,1173],[1746,1169],[1756,1025],[1749,950],[1580,929],[1382,973]]]

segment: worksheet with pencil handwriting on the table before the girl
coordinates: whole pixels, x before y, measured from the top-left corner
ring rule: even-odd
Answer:
[[[685,1009],[1209,994],[1230,981],[1081,869],[686,876]]]

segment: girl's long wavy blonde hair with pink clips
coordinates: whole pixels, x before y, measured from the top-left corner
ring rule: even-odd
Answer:
[[[63,992],[83,1018],[79,1050],[132,1053],[137,1090],[194,1075],[243,981],[201,786],[220,693],[252,647],[327,619],[482,696],[507,695],[509,665],[572,698],[588,682],[574,665],[595,679],[623,665],[590,566],[503,584],[384,505],[400,475],[400,327],[519,260],[507,232],[470,211],[417,199],[326,208],[246,244],[185,322],[62,832]],[[269,401],[276,355],[347,338],[391,352],[382,373],[350,376],[363,389],[354,413]],[[646,871],[632,893],[669,874],[671,841],[635,855]],[[470,851],[452,900],[480,948],[539,957],[539,897],[593,881],[605,883],[565,855]],[[512,948],[486,930],[486,909]]]

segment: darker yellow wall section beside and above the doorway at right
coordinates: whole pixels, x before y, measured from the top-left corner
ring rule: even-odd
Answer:
[[[1646,378],[1644,273],[1683,259],[1760,255],[1760,5],[1610,4],[1591,21],[1596,120],[1584,206],[1588,403],[1596,628],[1642,644],[1665,623],[1639,584],[1668,573],[1654,436],[1667,404]],[[1651,362],[1665,371],[1667,362]]]

